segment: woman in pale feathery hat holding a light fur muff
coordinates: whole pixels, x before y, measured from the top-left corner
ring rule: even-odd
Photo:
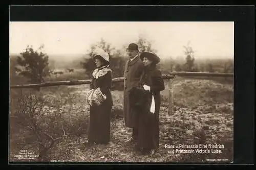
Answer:
[[[109,55],[100,48],[94,51],[96,69],[92,74],[91,90],[87,94],[90,104],[88,144],[110,141],[110,114],[113,106],[111,95],[112,71]]]

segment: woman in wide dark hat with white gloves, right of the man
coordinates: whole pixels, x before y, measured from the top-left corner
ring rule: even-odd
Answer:
[[[140,58],[144,64],[141,86],[146,91],[146,98],[139,115],[137,148],[142,151],[142,154],[153,155],[159,147],[160,91],[165,87],[161,72],[156,68],[160,58],[148,52],[143,52]]]

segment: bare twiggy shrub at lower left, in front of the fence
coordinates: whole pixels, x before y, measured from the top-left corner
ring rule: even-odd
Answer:
[[[11,108],[11,150],[32,150],[38,155],[37,161],[49,161],[50,151],[56,147],[56,143],[86,132],[87,114],[72,116],[63,113],[70,98],[62,96],[59,100],[53,98],[55,101],[49,99],[39,92],[22,94],[16,98],[15,107]],[[15,128],[16,131],[13,130]],[[21,132],[22,138],[12,138],[17,133],[20,136]],[[16,148],[12,148],[15,145]]]

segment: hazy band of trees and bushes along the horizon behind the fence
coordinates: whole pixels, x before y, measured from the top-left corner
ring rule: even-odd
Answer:
[[[157,54],[157,50],[152,47],[152,42],[143,36],[138,37],[136,42],[139,46],[139,54],[142,52],[152,52]],[[176,59],[173,57],[161,58],[157,67],[164,73],[172,71],[192,71],[192,72],[233,72],[233,59],[199,59],[193,51],[193,48],[187,43],[184,47],[184,55]],[[50,76],[53,70],[73,70],[73,75],[81,74],[81,71],[74,71],[75,69],[84,70],[84,78],[92,77],[92,71],[96,68],[93,52],[99,47],[102,48],[110,56],[110,68],[112,69],[113,78],[124,76],[124,65],[128,60],[126,57],[126,48],[128,44],[123,44],[121,48],[116,49],[111,43],[104,39],[92,43],[90,50],[83,55],[48,55],[44,53],[44,45],[41,45],[38,50],[32,46],[27,46],[26,50],[20,55],[11,55],[10,59],[10,77],[16,81],[16,76],[26,77],[30,83],[44,82],[45,78]],[[217,58],[217,57],[216,57]],[[55,71],[56,72],[56,71]],[[78,76],[79,77],[79,76]],[[15,82],[13,81],[13,82]],[[18,82],[17,82],[18,83]],[[120,84],[120,87],[122,85]]]

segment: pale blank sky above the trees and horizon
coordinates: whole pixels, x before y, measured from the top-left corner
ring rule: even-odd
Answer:
[[[233,22],[10,22],[10,53],[45,44],[51,54],[84,54],[102,37],[116,48],[143,34],[161,57],[184,56],[190,41],[195,57],[233,57]]]

